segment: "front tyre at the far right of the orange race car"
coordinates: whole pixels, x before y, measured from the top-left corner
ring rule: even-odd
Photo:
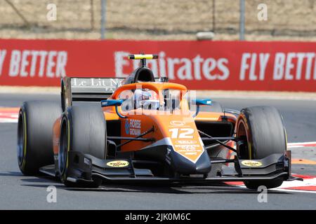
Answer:
[[[237,144],[237,153],[243,160],[260,160],[274,153],[287,150],[287,134],[282,116],[272,106],[253,106],[242,109],[237,118],[237,137],[246,139],[245,144]],[[259,186],[277,188],[283,178],[273,181],[245,181],[247,188]]]

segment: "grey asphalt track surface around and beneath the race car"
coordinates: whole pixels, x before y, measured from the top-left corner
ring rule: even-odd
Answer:
[[[0,94],[0,107],[17,107],[29,99],[58,101],[56,94]],[[271,105],[284,117],[289,142],[316,141],[316,101],[216,99],[225,107]],[[0,123],[0,209],[316,209],[315,191],[269,190],[268,202],[240,186],[104,186],[72,189],[45,176],[22,176],[16,159],[16,123]],[[315,148],[293,148],[295,174],[316,176]],[[304,162],[304,161],[308,162]],[[303,161],[303,162],[302,162]],[[313,179],[311,179],[313,180]],[[308,183],[308,182],[307,182]],[[48,186],[57,202],[48,203]]]

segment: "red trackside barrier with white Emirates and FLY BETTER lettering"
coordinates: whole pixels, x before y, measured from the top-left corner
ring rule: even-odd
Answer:
[[[154,74],[195,90],[316,92],[316,43],[0,39],[0,85],[58,86],[61,76],[126,77],[131,53],[155,53]],[[103,83],[95,79],[96,86]]]

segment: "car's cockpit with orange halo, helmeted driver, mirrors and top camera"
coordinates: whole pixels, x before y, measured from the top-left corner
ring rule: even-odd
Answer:
[[[130,111],[140,114],[143,111],[191,113],[191,102],[195,102],[197,106],[192,115],[197,116],[199,105],[211,105],[211,100],[192,100],[195,95],[192,96],[192,92],[184,85],[169,83],[166,77],[154,78],[152,70],[146,66],[146,59],[157,58],[158,55],[129,55],[129,59],[140,59],[140,66],[122,81],[121,87],[113,92],[110,101],[102,101],[101,105],[115,106],[115,111],[121,118],[125,117],[120,112]]]

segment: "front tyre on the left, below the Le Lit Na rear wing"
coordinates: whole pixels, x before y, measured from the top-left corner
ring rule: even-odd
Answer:
[[[68,152],[77,151],[93,155],[99,159],[106,156],[107,132],[104,113],[99,105],[75,105],[65,111],[60,125],[60,149],[58,169],[60,180],[67,187],[98,188],[102,181],[93,179],[92,183],[73,183],[69,177]]]

